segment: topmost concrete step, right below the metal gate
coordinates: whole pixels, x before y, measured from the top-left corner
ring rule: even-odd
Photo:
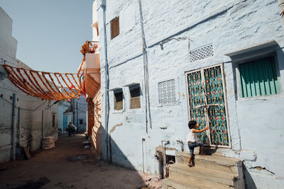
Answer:
[[[187,165],[187,159],[189,156],[188,151],[177,151],[175,153],[176,162],[178,164]],[[243,161],[241,159],[233,159],[224,156],[215,155],[198,155],[195,154],[194,159],[195,167],[202,167],[224,173],[232,173],[238,178],[243,178]]]

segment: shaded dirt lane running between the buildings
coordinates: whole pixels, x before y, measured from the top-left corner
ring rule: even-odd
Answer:
[[[0,188],[160,188],[161,181],[153,176],[94,159],[84,141],[82,135],[62,135],[54,149],[4,164]]]

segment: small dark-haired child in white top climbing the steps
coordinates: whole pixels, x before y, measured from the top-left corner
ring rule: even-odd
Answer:
[[[188,127],[190,128],[190,131],[188,132],[188,135],[187,135],[187,144],[188,144],[188,148],[190,149],[190,156],[188,156],[187,166],[190,166],[190,167],[193,166],[192,164],[190,164],[190,161],[193,156],[193,151],[195,151],[195,147],[200,147],[200,154],[204,155],[203,154],[204,144],[202,142],[197,142],[197,132],[204,132],[206,130],[209,130],[209,127],[205,127],[202,130],[197,130],[199,126],[200,125],[195,120],[191,120],[190,122],[188,122]]]

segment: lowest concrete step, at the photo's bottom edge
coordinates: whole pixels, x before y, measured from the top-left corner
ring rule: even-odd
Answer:
[[[224,189],[232,188],[227,185],[221,185],[219,183],[209,182],[205,180],[188,180],[182,179],[180,177],[171,176],[170,178],[165,178],[162,181],[163,189]]]

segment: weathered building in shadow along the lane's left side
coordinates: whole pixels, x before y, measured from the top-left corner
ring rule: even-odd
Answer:
[[[58,104],[27,96],[6,78],[3,64],[31,68],[16,59],[12,20],[1,7],[0,25],[0,162],[4,162],[23,156],[23,147],[39,149],[43,137],[58,139]]]

